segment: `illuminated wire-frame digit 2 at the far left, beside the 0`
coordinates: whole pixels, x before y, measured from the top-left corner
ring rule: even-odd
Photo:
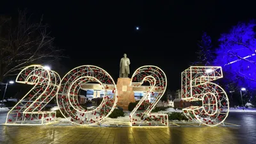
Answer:
[[[42,111],[58,91],[60,76],[41,65],[24,68],[16,83],[34,85],[33,88],[8,112],[6,124],[42,125],[55,121],[56,112]]]

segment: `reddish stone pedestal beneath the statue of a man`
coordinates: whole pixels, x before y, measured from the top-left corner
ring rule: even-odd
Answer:
[[[132,90],[132,86],[130,86],[131,79],[120,77],[117,79],[117,92],[118,92],[118,102],[117,106],[120,106],[125,111],[128,110],[128,105],[130,102],[135,102],[134,92]]]

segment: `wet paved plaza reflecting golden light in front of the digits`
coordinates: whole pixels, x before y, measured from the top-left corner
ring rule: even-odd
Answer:
[[[244,119],[245,118],[245,119]],[[0,126],[0,143],[255,143],[255,113],[230,113],[241,127]],[[233,121],[232,121],[233,120]]]

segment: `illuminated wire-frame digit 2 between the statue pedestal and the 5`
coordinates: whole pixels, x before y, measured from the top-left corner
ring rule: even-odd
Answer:
[[[163,70],[152,65],[138,68],[132,75],[131,86],[141,86],[144,81],[147,81],[150,86],[148,86],[148,90],[140,102],[131,111],[131,126],[168,126],[168,115],[151,113],[166,90],[167,79]],[[154,99],[152,102],[147,99],[148,95]]]

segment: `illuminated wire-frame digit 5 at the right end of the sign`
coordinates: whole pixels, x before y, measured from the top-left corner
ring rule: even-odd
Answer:
[[[186,117],[208,126],[223,123],[229,111],[227,93],[218,84],[211,83],[223,77],[221,67],[189,67],[181,76],[182,100],[202,103],[202,106],[182,109]]]

